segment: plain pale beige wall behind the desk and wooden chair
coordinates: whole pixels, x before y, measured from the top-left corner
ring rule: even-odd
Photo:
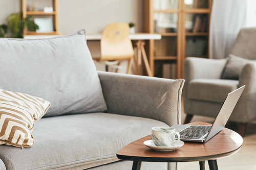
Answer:
[[[27,0],[37,6],[42,4],[41,1],[50,0]],[[0,0],[0,25],[7,23],[8,16],[20,9],[21,0]],[[59,32],[62,34],[71,34],[80,29],[86,29],[87,34],[101,33],[110,22],[131,21],[136,24],[136,32],[142,32],[142,18],[143,0],[59,0]],[[97,51],[92,52],[94,54]],[[121,65],[126,66],[126,63]],[[104,70],[102,64],[96,63],[96,67]],[[125,68],[121,72],[125,72]]]

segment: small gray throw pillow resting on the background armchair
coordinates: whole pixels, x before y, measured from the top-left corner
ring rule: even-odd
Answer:
[[[227,64],[222,73],[222,79],[238,80],[245,64],[255,60],[244,59],[232,54],[229,54]]]

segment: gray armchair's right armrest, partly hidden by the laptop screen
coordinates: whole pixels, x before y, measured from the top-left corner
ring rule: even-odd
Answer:
[[[250,62],[243,67],[239,78],[239,87],[243,85],[245,85],[245,89],[230,119],[248,122],[256,119],[256,62]],[[245,115],[245,113],[247,114]]]

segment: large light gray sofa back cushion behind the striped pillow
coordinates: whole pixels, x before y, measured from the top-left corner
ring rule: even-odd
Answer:
[[[107,110],[84,30],[49,39],[0,38],[0,88],[50,101],[45,116]]]

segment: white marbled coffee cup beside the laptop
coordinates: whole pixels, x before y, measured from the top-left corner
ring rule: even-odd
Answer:
[[[175,140],[175,135],[178,136],[177,140]],[[172,127],[154,127],[152,128],[152,140],[157,147],[170,147],[180,140],[180,134]]]

